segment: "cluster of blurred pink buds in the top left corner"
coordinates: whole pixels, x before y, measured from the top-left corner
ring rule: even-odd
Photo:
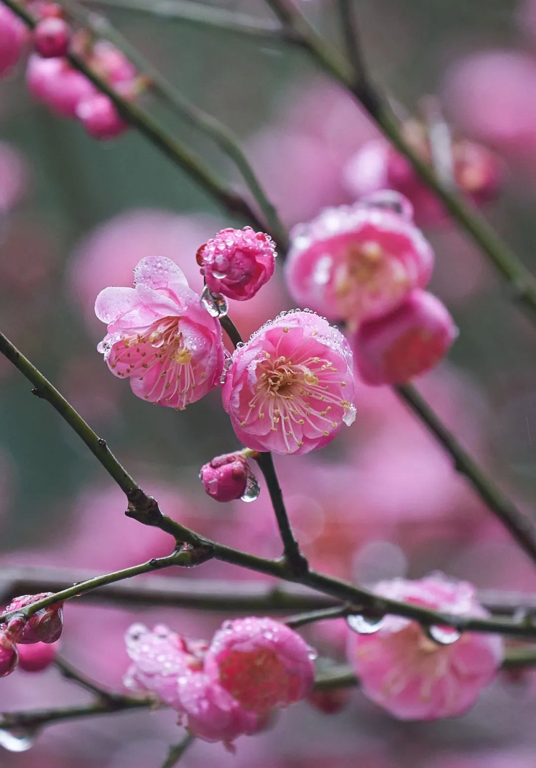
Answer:
[[[77,119],[92,137],[111,139],[126,131],[127,124],[110,97],[74,68],[67,55],[77,55],[117,94],[132,101],[145,83],[130,61],[84,29],[71,32],[58,3],[29,0],[28,10],[38,20],[31,32],[14,12],[0,5],[0,78],[9,74],[31,45],[26,83],[37,101],[63,118]]]

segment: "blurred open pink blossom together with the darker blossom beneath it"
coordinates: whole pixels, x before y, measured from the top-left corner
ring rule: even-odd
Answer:
[[[403,384],[436,366],[456,330],[424,290],[434,257],[406,197],[386,190],[327,208],[291,235],[288,290],[346,324],[364,382]]]

